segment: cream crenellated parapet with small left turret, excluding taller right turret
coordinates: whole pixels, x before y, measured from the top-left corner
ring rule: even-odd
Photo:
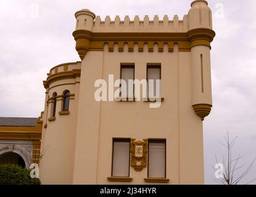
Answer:
[[[76,12],[76,30],[89,30],[93,32],[186,32],[188,31],[188,15],[184,15],[182,20],[175,15],[172,20],[165,15],[159,18],[155,15],[150,20],[146,15],[139,18],[136,15],[130,18],[128,15],[121,20],[117,15],[114,20],[106,16],[104,20],[101,17],[95,17],[95,14],[88,9],[82,9]]]

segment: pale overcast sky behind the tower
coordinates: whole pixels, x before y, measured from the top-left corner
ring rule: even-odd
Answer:
[[[143,18],[163,15],[181,19],[191,0],[0,0],[0,116],[38,117],[44,109],[43,80],[52,66],[78,61],[72,32],[76,10],[90,9],[104,20],[110,15]],[[219,141],[229,131],[237,138],[234,156],[246,166],[256,156],[256,2],[212,0],[213,109],[204,121],[205,183],[212,181],[215,153],[226,149]],[[244,169],[246,168],[244,167]],[[256,163],[244,179],[256,178]],[[256,181],[253,182],[256,184]]]

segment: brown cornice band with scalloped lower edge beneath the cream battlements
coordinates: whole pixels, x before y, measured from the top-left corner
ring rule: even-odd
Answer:
[[[76,30],[73,32],[76,41],[76,50],[81,60],[88,51],[103,51],[104,44],[109,44],[109,52],[114,51],[115,42],[118,43],[118,51],[123,51],[123,45],[128,44],[128,51],[133,52],[133,45],[138,44],[139,52],[143,52],[144,44],[148,44],[149,52],[153,51],[154,44],[159,46],[159,52],[163,52],[163,44],[168,44],[168,51],[173,51],[173,45],[178,43],[179,51],[190,51],[191,47],[204,45],[210,47],[215,37],[215,32],[208,28],[196,28],[188,32],[158,32],[158,33],[93,33],[88,30]]]

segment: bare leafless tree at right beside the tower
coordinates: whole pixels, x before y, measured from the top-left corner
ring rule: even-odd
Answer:
[[[233,158],[232,155],[232,147],[234,143],[236,142],[237,137],[234,137],[234,139],[229,139],[229,133],[227,132],[227,137],[224,137],[225,143],[221,143],[224,147],[227,148],[227,155],[223,156],[222,163],[218,162],[217,156],[215,155],[216,159],[216,166],[213,167],[213,169],[217,169],[216,172],[218,172],[219,176],[216,177],[215,175],[215,182],[218,182],[222,185],[237,185],[241,180],[246,177],[246,175],[251,171],[252,167],[254,166],[254,163],[256,161],[256,158],[252,161],[252,163],[249,164],[249,166],[244,170],[236,174],[237,170],[242,169],[244,165],[238,166],[239,161],[242,159],[243,155],[238,155],[236,158]],[[215,173],[216,173],[215,172]],[[247,184],[254,182],[255,179],[251,180],[250,182],[247,182]]]

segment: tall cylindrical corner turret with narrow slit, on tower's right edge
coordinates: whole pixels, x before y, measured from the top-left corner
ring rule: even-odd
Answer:
[[[193,1],[188,14],[189,39],[191,40],[192,106],[195,113],[204,120],[212,108],[212,86],[210,72],[210,42],[212,31],[212,11],[207,1]],[[194,30],[200,28],[199,34]],[[203,41],[205,43],[197,44]]]

